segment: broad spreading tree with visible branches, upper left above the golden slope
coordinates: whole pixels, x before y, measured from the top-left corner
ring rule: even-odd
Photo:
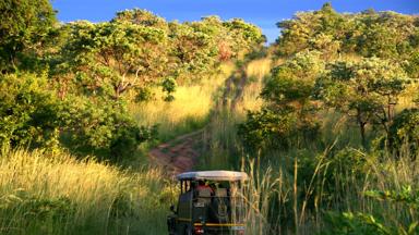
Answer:
[[[71,24],[64,63],[89,95],[115,99],[128,89],[157,83],[164,76],[166,34],[129,22]]]

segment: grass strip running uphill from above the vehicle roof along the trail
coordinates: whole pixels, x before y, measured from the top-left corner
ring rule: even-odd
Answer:
[[[234,109],[230,106],[218,107],[204,133],[206,146],[203,151],[205,154],[201,158],[201,169],[231,169],[240,164],[242,151],[237,137],[237,124],[246,120],[248,111],[256,111],[262,107],[263,100],[260,98],[260,92],[271,66],[272,61],[268,58],[253,60],[246,64],[247,83],[243,87],[238,85],[234,87],[242,89],[241,97]]]

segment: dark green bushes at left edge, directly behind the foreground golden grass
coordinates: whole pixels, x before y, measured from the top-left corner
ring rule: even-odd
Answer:
[[[47,79],[34,74],[10,74],[0,79],[0,147],[94,153],[112,160],[131,154],[156,135],[140,127],[121,101],[68,97],[48,91]],[[60,138],[61,137],[61,138]]]

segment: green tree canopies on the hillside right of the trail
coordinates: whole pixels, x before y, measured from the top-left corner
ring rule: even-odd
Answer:
[[[308,133],[312,138],[320,111],[331,109],[359,127],[366,148],[368,128],[394,136],[399,97],[418,78],[418,16],[337,13],[326,3],[277,26],[274,47],[282,62],[265,79],[264,107],[241,125],[246,144],[280,144]]]

